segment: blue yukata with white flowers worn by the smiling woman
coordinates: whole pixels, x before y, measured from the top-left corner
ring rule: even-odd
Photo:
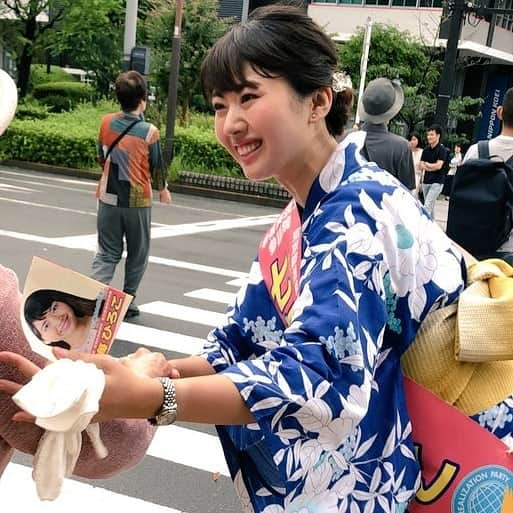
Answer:
[[[349,134],[310,190],[290,325],[255,262],[202,354],[257,421],[218,427],[245,513],[401,512],[419,485],[400,356],[465,266],[363,140]]]

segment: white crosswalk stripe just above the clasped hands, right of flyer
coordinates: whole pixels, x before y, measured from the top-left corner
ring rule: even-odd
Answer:
[[[138,345],[151,346],[186,355],[199,353],[205,343],[205,340],[202,338],[149,328],[139,324],[130,324],[128,322],[121,323],[116,338]]]

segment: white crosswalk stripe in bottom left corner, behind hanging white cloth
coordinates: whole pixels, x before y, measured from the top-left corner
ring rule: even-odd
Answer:
[[[144,513],[183,513],[174,508],[153,504],[103,488],[65,479],[62,492],[55,501],[42,502],[36,494],[32,469],[10,463],[0,480],[2,511],[19,510],[30,513],[91,513],[93,511],[144,511]],[[23,487],[23,488],[22,488]]]

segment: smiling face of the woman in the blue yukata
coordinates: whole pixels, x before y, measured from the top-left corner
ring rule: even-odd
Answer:
[[[283,78],[262,77],[248,66],[245,79],[240,91],[214,91],[216,136],[247,178],[280,179],[301,165],[309,103]]]

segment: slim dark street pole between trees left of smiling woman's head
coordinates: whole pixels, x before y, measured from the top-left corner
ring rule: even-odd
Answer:
[[[182,40],[182,17],[184,0],[176,0],[175,29],[171,45],[171,63],[169,66],[169,89],[167,95],[166,140],[164,142],[163,158],[166,169],[173,161],[175,139],[176,101],[178,96],[178,74],[180,71],[180,45]]]

